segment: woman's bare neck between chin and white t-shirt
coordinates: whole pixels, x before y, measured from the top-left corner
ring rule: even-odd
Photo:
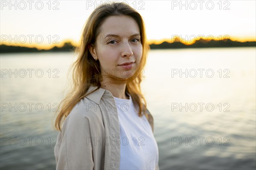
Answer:
[[[126,83],[122,83],[122,84],[115,84],[112,82],[107,83],[104,80],[101,82],[101,88],[104,88],[110,91],[114,97],[117,97],[120,99],[129,99],[129,96],[125,94],[125,87],[126,87]]]

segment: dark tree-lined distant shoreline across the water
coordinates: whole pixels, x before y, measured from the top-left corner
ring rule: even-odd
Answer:
[[[230,39],[208,41],[200,39],[191,45],[185,45],[182,42],[162,42],[161,44],[150,44],[151,50],[154,49],[181,49],[181,48],[227,48],[227,47],[256,47],[256,41],[238,42]],[[22,53],[22,52],[72,52],[76,46],[71,42],[65,42],[62,47],[53,47],[49,50],[39,50],[38,48],[29,48],[12,45],[0,45],[0,53]]]

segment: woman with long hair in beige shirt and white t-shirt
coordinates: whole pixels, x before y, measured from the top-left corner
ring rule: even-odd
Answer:
[[[93,11],[74,63],[73,90],[55,121],[56,169],[159,169],[153,117],[140,91],[148,49],[133,8],[108,3]]]

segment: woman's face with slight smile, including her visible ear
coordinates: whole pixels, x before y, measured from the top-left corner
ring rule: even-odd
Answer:
[[[124,15],[106,18],[96,37],[96,43],[90,47],[90,53],[93,58],[99,59],[103,76],[133,76],[143,53],[140,29],[136,21]],[[130,65],[123,65],[131,62]]]

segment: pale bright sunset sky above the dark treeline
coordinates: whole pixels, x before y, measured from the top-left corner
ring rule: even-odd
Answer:
[[[91,12],[109,1],[0,0],[0,44],[37,48],[79,42]],[[143,17],[149,42],[195,37],[256,40],[256,0],[126,0]]]

